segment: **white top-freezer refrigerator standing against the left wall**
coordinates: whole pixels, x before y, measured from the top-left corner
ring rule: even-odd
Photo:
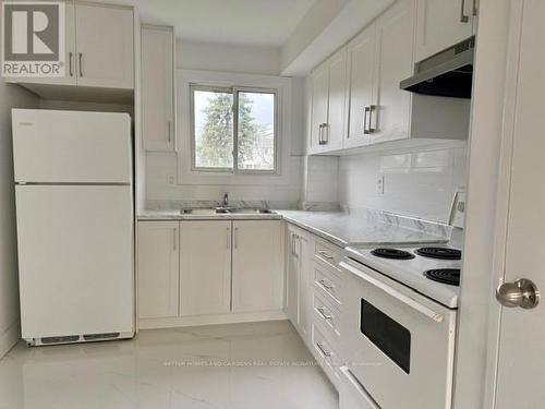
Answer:
[[[13,109],[22,337],[134,335],[131,120]]]

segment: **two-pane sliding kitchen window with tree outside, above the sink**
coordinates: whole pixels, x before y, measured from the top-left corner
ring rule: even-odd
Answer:
[[[192,170],[277,171],[276,89],[191,85]]]

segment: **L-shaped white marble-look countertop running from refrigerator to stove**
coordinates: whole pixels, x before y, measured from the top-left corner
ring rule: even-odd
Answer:
[[[342,212],[275,210],[276,214],[180,214],[180,210],[146,210],[138,220],[262,220],[284,219],[336,245],[439,243],[446,238],[419,229],[351,216]]]

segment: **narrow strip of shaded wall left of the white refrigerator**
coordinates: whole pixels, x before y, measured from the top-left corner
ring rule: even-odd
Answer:
[[[0,81],[0,358],[20,338],[11,108],[37,105],[34,94]]]

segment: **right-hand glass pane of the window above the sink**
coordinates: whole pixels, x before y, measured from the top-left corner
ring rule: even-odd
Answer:
[[[239,169],[275,170],[275,94],[239,93]]]

